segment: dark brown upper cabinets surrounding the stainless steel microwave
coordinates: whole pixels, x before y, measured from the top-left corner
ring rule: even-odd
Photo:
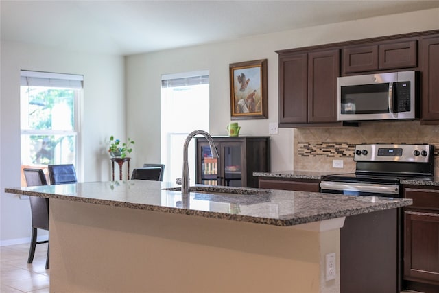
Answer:
[[[420,123],[439,124],[439,30],[276,51],[279,126],[357,126],[337,121],[337,77],[420,72]]]

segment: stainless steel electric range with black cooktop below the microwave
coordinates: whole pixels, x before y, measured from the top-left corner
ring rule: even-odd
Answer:
[[[432,180],[434,145],[355,146],[355,173],[322,176],[322,192],[356,196],[401,196],[401,180]]]

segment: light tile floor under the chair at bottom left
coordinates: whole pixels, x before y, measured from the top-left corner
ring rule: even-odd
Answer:
[[[0,292],[49,292],[47,244],[37,244],[33,263],[27,263],[29,244],[0,247]]]

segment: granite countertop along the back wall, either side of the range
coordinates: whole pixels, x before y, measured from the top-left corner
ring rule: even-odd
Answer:
[[[343,174],[346,172],[338,172]],[[312,171],[272,171],[272,172],[253,172],[253,176],[266,178],[295,178],[295,179],[313,179],[321,180],[322,176],[333,175],[337,172],[312,172]],[[439,186],[439,176],[433,178],[422,179],[402,179],[401,184],[404,185],[424,185]]]

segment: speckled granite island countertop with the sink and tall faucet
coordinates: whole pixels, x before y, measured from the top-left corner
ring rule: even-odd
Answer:
[[[219,193],[219,192],[223,193]],[[5,188],[6,193],[165,213],[292,226],[394,209],[411,199],[195,185],[182,196],[171,183],[147,180]]]

